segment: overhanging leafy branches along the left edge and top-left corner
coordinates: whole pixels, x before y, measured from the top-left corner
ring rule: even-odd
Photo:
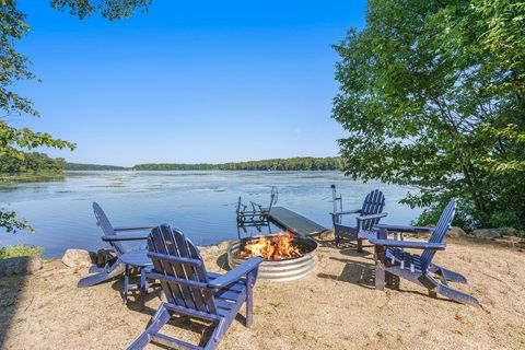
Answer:
[[[150,2],[151,0],[51,0],[51,5],[59,10],[69,9],[71,14],[80,19],[100,11],[104,18],[116,20],[131,15],[136,10],[145,11]],[[25,23],[26,15],[19,10],[15,0],[0,0],[0,158],[24,162],[23,150],[38,147],[73,150],[75,144],[72,142],[8,122],[23,116],[37,117],[39,114],[30,98],[21,96],[13,89],[18,81],[35,79],[30,71],[28,58],[15,47],[16,42],[30,31]],[[18,220],[12,211],[1,208],[0,226],[8,232],[27,229],[25,221]]]

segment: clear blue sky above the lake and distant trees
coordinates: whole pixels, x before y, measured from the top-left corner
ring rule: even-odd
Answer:
[[[23,0],[21,83],[42,118],[19,126],[77,142],[70,162],[226,162],[338,153],[338,57],[365,1],[170,1],[108,22]]]

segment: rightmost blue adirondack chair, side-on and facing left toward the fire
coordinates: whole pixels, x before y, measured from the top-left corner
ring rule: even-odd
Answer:
[[[438,250],[443,250],[445,234],[451,230],[452,220],[456,211],[455,200],[451,200],[441,214],[435,228],[417,228],[380,224],[374,228],[378,231],[376,238],[369,241],[375,247],[375,289],[384,290],[385,272],[393,273],[429,290],[431,296],[441,294],[462,304],[479,305],[476,298],[456,290],[448,282],[467,283],[467,279],[458,273],[445,269],[432,259]],[[429,242],[409,242],[387,238],[388,232],[431,232]],[[421,255],[405,249],[422,249]]]

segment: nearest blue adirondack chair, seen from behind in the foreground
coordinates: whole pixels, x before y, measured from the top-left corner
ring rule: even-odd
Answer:
[[[148,328],[128,350],[143,349],[150,342],[175,349],[217,349],[245,302],[246,326],[252,325],[253,288],[260,257],[250,258],[224,275],[207,272],[198,248],[170,225],[154,228],[148,247],[153,270],[147,276],[160,280],[167,301],[161,303]],[[212,322],[213,332],[205,347],[160,334],[172,314]]]

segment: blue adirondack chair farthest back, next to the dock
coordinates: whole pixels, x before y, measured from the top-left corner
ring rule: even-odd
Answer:
[[[335,206],[336,208],[336,206]],[[376,233],[372,230],[381,220],[387,215],[383,212],[385,208],[385,196],[378,189],[374,189],[364,198],[361,209],[349,211],[334,211],[331,213],[331,221],[334,223],[334,233],[336,235],[336,246],[343,238],[350,241],[358,241],[358,252],[363,252],[363,240],[376,237]],[[342,224],[342,217],[347,214],[359,214],[355,228]]]

